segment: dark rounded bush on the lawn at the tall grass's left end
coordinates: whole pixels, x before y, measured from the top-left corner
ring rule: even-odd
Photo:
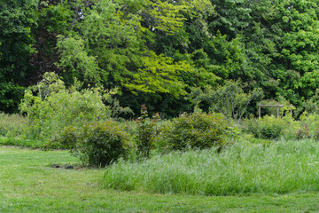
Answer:
[[[117,122],[93,122],[82,128],[67,127],[53,138],[51,146],[69,148],[89,166],[105,167],[126,154],[127,138]]]

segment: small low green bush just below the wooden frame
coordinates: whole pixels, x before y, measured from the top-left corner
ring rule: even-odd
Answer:
[[[282,118],[266,115],[259,119],[246,120],[243,129],[256,138],[276,139],[280,138],[286,124]]]

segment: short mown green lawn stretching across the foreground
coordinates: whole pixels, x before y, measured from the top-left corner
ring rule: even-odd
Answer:
[[[103,187],[104,170],[76,165],[67,152],[0,147],[0,212],[319,212],[319,194],[190,196]]]

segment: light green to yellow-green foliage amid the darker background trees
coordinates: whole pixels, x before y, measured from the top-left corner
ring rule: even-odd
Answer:
[[[172,33],[183,23],[172,17],[180,16],[185,6],[146,1],[138,2],[136,7],[139,9],[132,3],[122,6],[121,1],[84,6],[83,17],[75,21],[74,30],[58,36],[58,66],[65,69],[67,79],[76,76],[86,84],[119,86],[136,94],[185,94],[185,85],[178,76],[191,66],[147,49],[145,44],[152,42],[152,31],[141,25],[140,14],[140,10],[149,12],[156,21],[153,28]]]

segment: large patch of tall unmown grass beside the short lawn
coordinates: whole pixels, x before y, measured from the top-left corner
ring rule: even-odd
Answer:
[[[155,155],[118,162],[105,171],[105,187],[149,193],[230,195],[319,191],[319,144],[278,141]]]

